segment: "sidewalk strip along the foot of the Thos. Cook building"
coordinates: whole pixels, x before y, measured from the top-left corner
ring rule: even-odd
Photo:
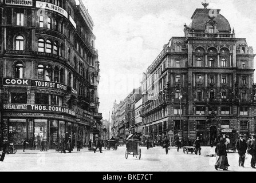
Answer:
[[[102,148],[102,151],[108,150],[107,148],[105,149],[104,147]],[[99,149],[97,149],[96,152],[100,152]],[[56,152],[55,149],[48,149],[47,151],[43,151],[44,153],[58,153],[60,154],[61,152]],[[25,152],[23,152],[23,149],[18,149],[16,154],[37,154],[37,153],[43,153],[39,149],[36,150],[31,150],[31,149],[25,149]],[[85,153],[85,152],[93,152],[93,150],[89,150],[88,147],[80,149],[80,151],[77,151],[77,148],[74,148],[71,153]],[[68,153],[68,150],[66,150],[66,153]]]

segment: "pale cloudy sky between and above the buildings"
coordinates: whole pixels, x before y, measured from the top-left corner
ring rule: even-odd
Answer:
[[[183,36],[204,0],[84,0],[93,19],[95,47],[99,50],[99,112],[108,120],[113,102],[124,100],[140,86],[142,73],[171,37]],[[220,9],[256,53],[256,1],[207,0],[208,9]],[[254,59],[256,61],[256,59]],[[254,79],[256,82],[256,79]]]

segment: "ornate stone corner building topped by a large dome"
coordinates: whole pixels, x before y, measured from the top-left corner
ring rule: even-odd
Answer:
[[[143,134],[161,140],[255,132],[253,48],[220,10],[196,9],[184,37],[172,37],[142,81]]]

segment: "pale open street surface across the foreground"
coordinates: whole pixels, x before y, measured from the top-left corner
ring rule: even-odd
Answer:
[[[84,172],[216,172],[214,148],[202,147],[202,154],[177,152],[171,148],[168,154],[161,147],[148,149],[141,147],[141,159],[128,156],[125,159],[125,146],[117,150],[103,148],[103,153],[76,149],[72,153],[56,153],[55,150],[40,152],[38,150],[18,150],[16,154],[7,154],[5,161],[0,162],[0,171],[84,171]],[[238,154],[228,153],[229,171],[256,172],[250,167],[251,156],[247,155],[245,168],[238,166]],[[219,172],[223,172],[219,170]]]

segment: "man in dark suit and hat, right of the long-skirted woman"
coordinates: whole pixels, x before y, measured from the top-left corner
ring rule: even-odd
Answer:
[[[239,134],[240,139],[237,140],[237,142],[235,143],[235,148],[237,148],[239,154],[239,166],[245,167],[243,165],[245,164],[245,153],[247,149],[247,143],[246,140],[243,139],[243,137],[243,134]]]

